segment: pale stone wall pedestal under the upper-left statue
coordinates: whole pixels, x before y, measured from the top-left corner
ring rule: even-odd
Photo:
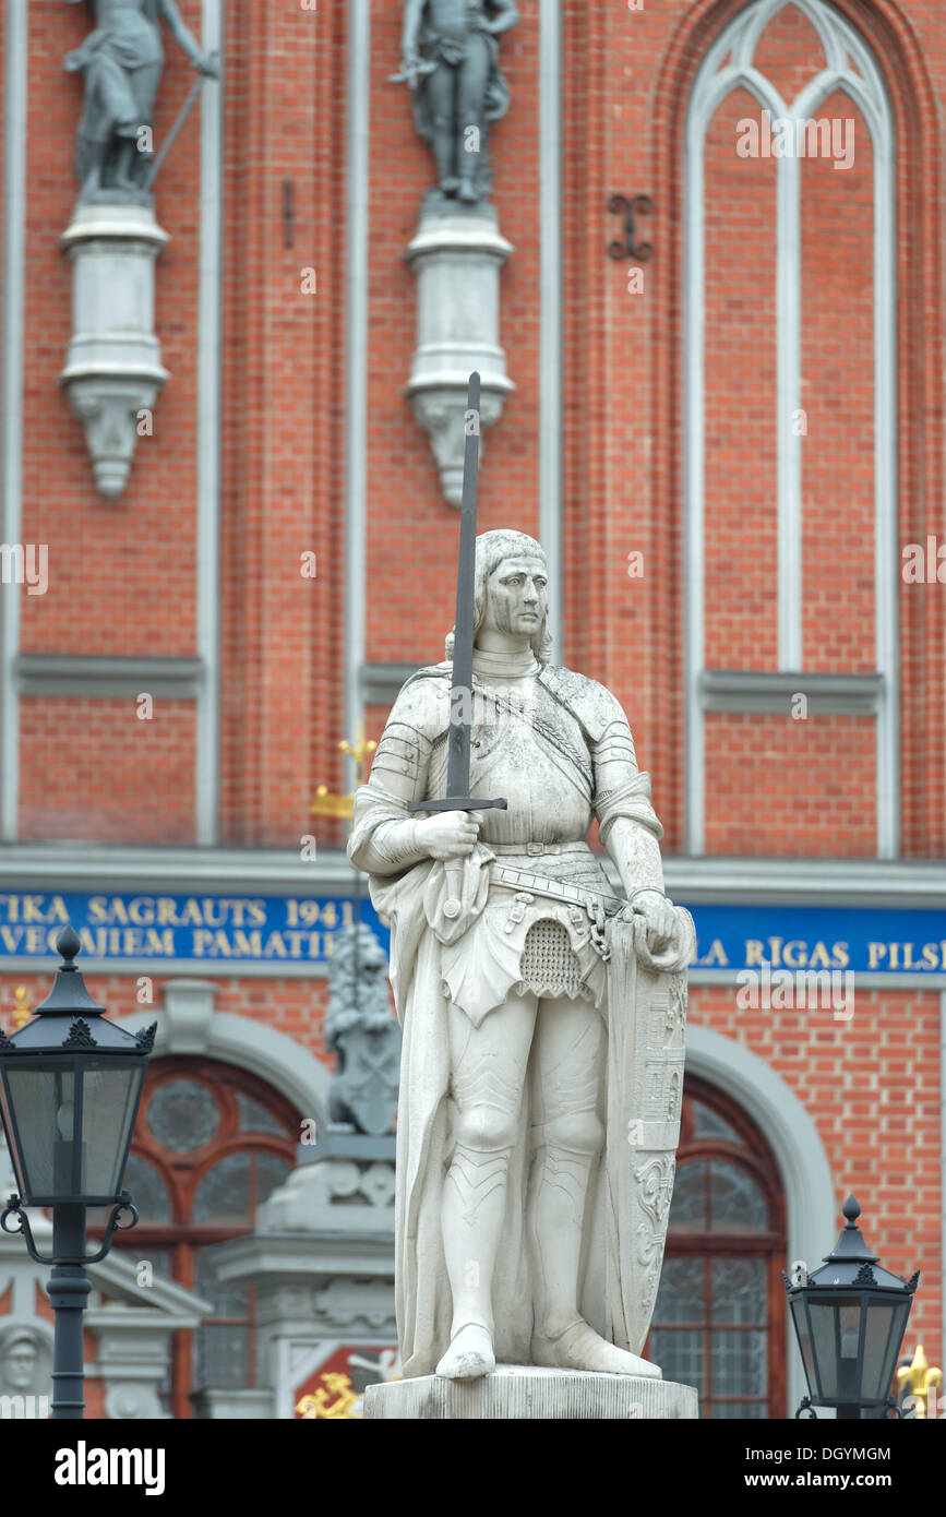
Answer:
[[[59,382],[109,498],[124,490],[168,378],[155,335],[155,259],[167,241],[150,205],[111,200],[79,205],[61,240],[73,264],[73,340]]]

